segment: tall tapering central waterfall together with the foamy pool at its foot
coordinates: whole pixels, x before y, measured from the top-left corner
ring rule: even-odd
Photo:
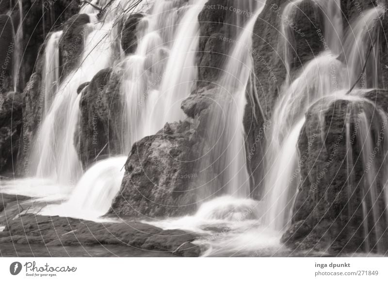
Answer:
[[[196,241],[208,250],[204,256],[239,255],[240,252],[260,250],[263,255],[276,250],[284,250],[279,243],[279,233],[262,226],[265,212],[262,202],[249,199],[249,175],[245,164],[245,133],[242,125],[248,82],[252,71],[252,32],[261,6],[257,6],[254,16],[246,23],[236,45],[231,49],[230,59],[224,67],[224,75],[218,84],[224,94],[216,100],[208,124],[208,136],[214,144],[212,153],[215,162],[201,163],[202,169],[218,169],[216,174],[220,186],[215,180],[208,182],[206,192],[200,191],[200,199],[209,198],[218,190],[224,189],[221,197],[216,197],[200,205],[194,216],[178,219],[166,219],[152,223],[163,229],[180,228],[188,231],[208,234]],[[228,114],[228,116],[223,116]],[[220,120],[224,119],[220,124]],[[211,145],[210,145],[211,147]],[[209,190],[211,193],[209,194]],[[217,229],[212,232],[212,229]]]

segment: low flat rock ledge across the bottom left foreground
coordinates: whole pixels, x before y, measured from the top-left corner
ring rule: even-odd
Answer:
[[[27,214],[9,221],[0,235],[0,243],[14,241],[47,246],[116,244],[171,252],[178,256],[199,256],[199,246],[191,243],[196,236],[181,230],[162,230],[137,221],[97,223]]]

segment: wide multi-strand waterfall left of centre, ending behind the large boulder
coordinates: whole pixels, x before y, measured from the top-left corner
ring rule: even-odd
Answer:
[[[158,1],[141,20],[136,52],[123,62],[126,153],[135,141],[156,133],[166,122],[184,119],[180,104],[196,80],[197,17],[205,2],[176,6],[179,2]]]

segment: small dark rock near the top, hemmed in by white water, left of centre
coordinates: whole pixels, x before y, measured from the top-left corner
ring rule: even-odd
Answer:
[[[136,50],[138,41],[136,31],[143,17],[144,15],[140,13],[133,14],[124,23],[123,30],[121,31],[121,47],[127,55],[134,53]]]

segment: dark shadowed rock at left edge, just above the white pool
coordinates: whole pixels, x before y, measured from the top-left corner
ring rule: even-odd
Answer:
[[[20,94],[0,94],[0,173],[13,172],[16,168],[22,105]]]

